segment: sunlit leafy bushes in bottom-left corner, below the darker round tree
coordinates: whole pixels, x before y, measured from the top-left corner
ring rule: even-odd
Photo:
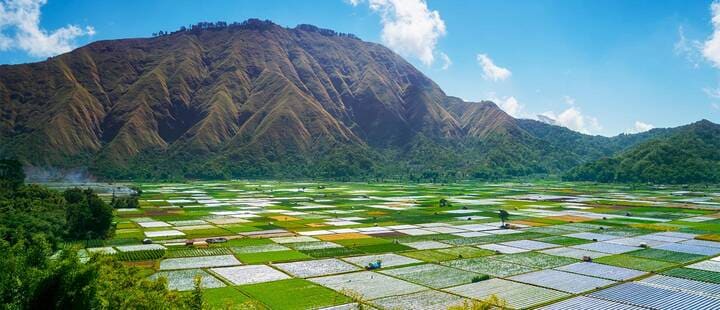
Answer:
[[[200,309],[202,295],[170,292],[162,278],[111,256],[82,263],[73,249],[51,256],[42,235],[11,245],[0,241],[0,303],[8,309]]]

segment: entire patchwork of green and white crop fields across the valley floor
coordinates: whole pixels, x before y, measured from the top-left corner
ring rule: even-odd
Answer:
[[[491,296],[516,309],[720,305],[718,189],[137,185],[141,207],[116,210],[114,238],[82,255],[115,255],[182,292],[200,277],[214,308],[444,309]]]

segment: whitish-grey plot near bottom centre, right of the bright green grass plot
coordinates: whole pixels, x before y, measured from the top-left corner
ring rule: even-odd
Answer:
[[[426,290],[420,285],[369,271],[312,278],[310,281],[335,291],[356,292],[367,299],[404,295]]]

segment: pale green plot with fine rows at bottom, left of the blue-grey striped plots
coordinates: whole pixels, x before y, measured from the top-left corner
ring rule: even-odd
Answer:
[[[511,308],[521,309],[547,303],[569,296],[556,290],[507,281],[490,279],[446,289],[448,292],[475,299],[485,299],[491,295],[505,301]]]

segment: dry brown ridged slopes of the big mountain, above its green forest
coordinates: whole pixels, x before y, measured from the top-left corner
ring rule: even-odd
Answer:
[[[310,156],[321,144],[402,147],[420,135],[519,130],[495,105],[449,101],[379,44],[257,22],[0,66],[0,141],[9,141],[0,152],[122,165],[147,150]]]

